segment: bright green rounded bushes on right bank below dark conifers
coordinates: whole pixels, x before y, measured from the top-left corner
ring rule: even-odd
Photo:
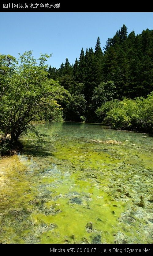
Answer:
[[[96,110],[99,120],[112,128],[153,133],[153,92],[145,98],[114,100]]]

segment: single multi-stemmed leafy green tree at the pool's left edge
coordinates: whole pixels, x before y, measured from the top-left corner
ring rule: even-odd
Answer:
[[[11,144],[16,147],[22,132],[32,129],[30,122],[40,112],[60,108],[58,101],[66,91],[58,82],[47,78],[45,62],[50,56],[41,54],[39,65],[32,57],[32,51],[20,56],[20,63],[14,68],[0,101],[1,143],[10,134]]]

